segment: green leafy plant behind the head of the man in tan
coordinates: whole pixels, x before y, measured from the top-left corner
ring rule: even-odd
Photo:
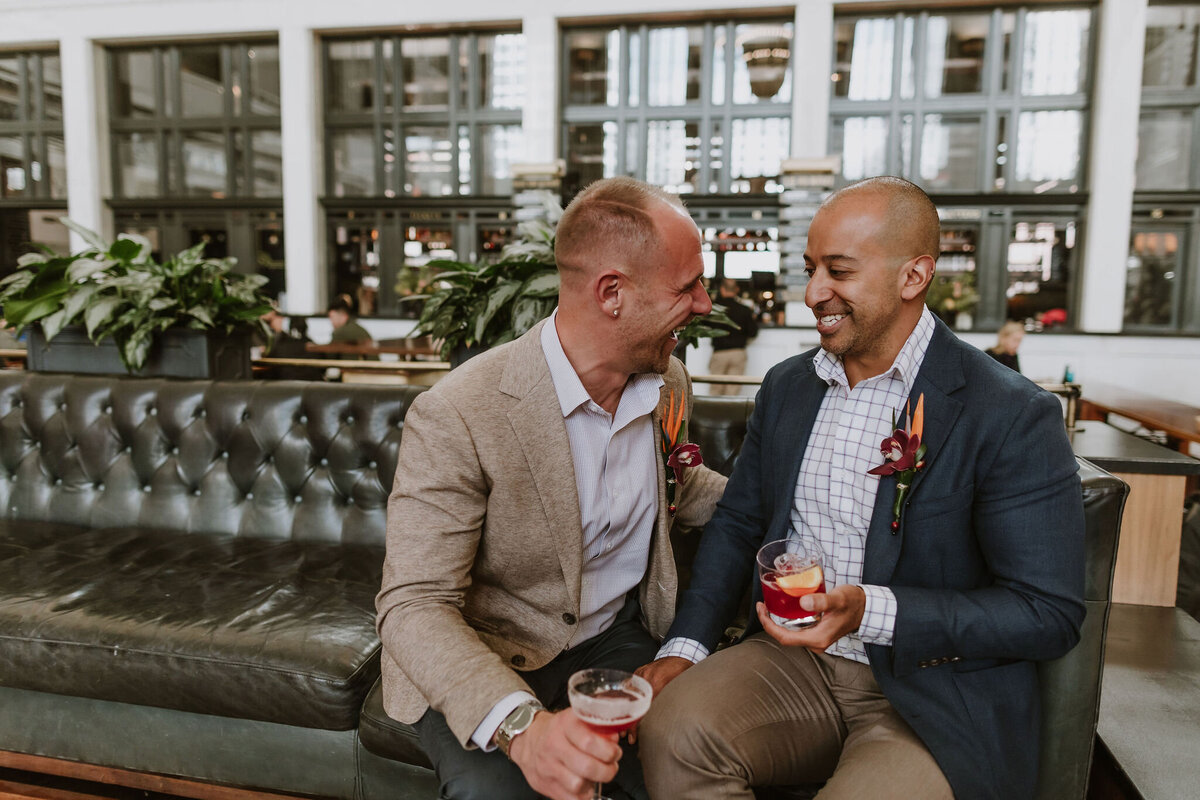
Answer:
[[[550,317],[558,305],[554,225],[563,210],[546,200],[544,211],[545,218],[517,225],[516,241],[505,245],[494,261],[430,261],[428,267],[444,271],[433,277],[431,294],[406,297],[425,301],[413,335],[442,342],[442,357],[457,366]],[[713,321],[737,327],[724,311],[714,308],[708,317],[691,320],[679,332],[679,341],[694,345],[700,337],[728,332],[709,324]]]

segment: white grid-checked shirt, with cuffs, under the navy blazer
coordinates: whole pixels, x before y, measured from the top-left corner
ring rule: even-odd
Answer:
[[[902,426],[908,396],[929,341],[934,315],[929,308],[905,341],[895,361],[882,374],[853,389],[841,359],[821,350],[812,360],[817,377],[829,384],[800,463],[792,503],[790,536],[817,542],[824,552],[826,589],[862,587],[866,607],[857,631],[834,642],[826,652],[868,663],[864,643],[890,645],[896,600],[887,587],[863,584],[866,533],[875,510],[880,479],[868,470],[883,463],[880,444],[892,435],[893,420]],[[701,661],[708,649],[698,642],[673,638],[658,657]]]

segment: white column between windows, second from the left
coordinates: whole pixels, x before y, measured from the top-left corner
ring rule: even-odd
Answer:
[[[317,198],[324,192],[320,59],[307,28],[280,29],[283,137],[283,227],[289,314],[317,314],[328,300],[325,225]]]

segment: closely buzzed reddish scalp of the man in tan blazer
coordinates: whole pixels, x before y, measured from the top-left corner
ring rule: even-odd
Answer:
[[[575,196],[558,221],[554,261],[563,283],[577,283],[601,269],[632,271],[656,252],[660,230],[653,211],[683,203],[632,178],[606,178]]]

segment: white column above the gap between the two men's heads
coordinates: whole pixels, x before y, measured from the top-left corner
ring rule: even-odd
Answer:
[[[792,157],[828,155],[833,0],[796,4],[792,40]]]

